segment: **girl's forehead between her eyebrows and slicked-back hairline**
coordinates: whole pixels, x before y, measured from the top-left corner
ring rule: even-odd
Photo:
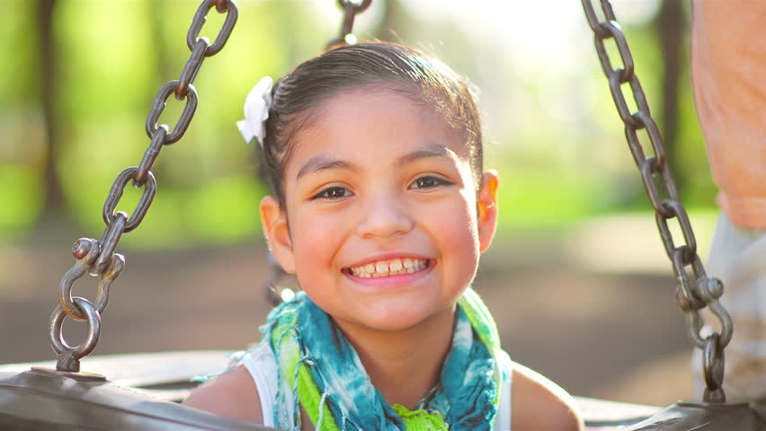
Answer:
[[[285,166],[288,179],[317,156],[374,156],[379,163],[390,163],[425,150],[453,154],[469,163],[462,134],[439,110],[410,92],[381,86],[346,90],[323,101],[308,113],[291,146]]]

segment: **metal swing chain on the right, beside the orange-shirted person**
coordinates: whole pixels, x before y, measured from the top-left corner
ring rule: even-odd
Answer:
[[[675,299],[687,321],[689,336],[695,346],[703,350],[703,370],[708,388],[704,393],[707,402],[725,402],[726,395],[722,389],[724,382],[724,348],[732,339],[732,319],[726,309],[718,302],[724,293],[724,285],[720,280],[708,277],[702,261],[697,254],[697,241],[691,230],[689,216],[681,205],[675,181],[672,179],[670,167],[665,158],[663,139],[659,128],[652,119],[646,94],[641,88],[634,70],[633,56],[630,54],[628,42],[617,23],[609,0],[600,0],[601,11],[606,18],[600,22],[593,9],[592,0],[582,0],[583,10],[593,31],[596,52],[601,60],[604,75],[609,79],[611,97],[619,113],[619,118],[625,124],[625,136],[628,147],[636,161],[641,180],[652,207],[655,208],[655,218],[665,252],[672,261],[677,288]],[[614,40],[619,52],[621,65],[613,67],[607,53],[605,42]],[[637,111],[628,108],[622,84],[628,84],[633,100],[636,101]],[[646,129],[649,143],[654,155],[646,155],[644,145],[638,138],[637,131]],[[658,183],[660,183],[658,185]],[[680,224],[683,243],[677,245],[673,241],[668,220],[675,218]],[[691,268],[691,274],[688,272]],[[708,307],[717,317],[721,332],[713,332],[703,337],[700,330],[704,324],[699,311]]]

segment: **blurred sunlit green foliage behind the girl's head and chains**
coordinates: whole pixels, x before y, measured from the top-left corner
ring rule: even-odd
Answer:
[[[242,116],[245,94],[261,76],[284,74],[334,37],[341,13],[334,0],[325,1],[325,9],[297,1],[239,2],[239,21],[226,48],[206,59],[195,82],[200,97],[195,119],[181,142],[163,149],[154,168],[155,202],[124,243],[188,247],[258,235],[257,207],[265,190],[254,180],[253,149],[234,123]],[[0,14],[0,36],[11,40],[0,51],[4,236],[33,229],[46,196],[39,82],[48,71],[40,70],[34,4],[12,0]],[[362,40],[424,46],[481,89],[487,167],[498,170],[503,183],[501,229],[560,228],[588,216],[648,207],[582,16],[573,26],[562,10],[564,15],[552,16],[562,28],[511,38],[508,31],[516,24],[483,22],[482,15],[472,22],[468,10],[448,13],[445,6],[439,13],[413,13],[413,4],[377,4],[357,22]],[[92,5],[57,2],[52,30],[59,60],[58,134],[50,142],[56,145],[66,196],[66,207],[53,210],[67,212],[97,236],[111,182],[137,165],[149,144],[144,121],[151,101],[160,85],[177,79],[189,57],[186,31],[198,4]],[[511,14],[518,11],[502,12],[509,13],[509,22],[524,20]],[[223,19],[211,11],[202,36],[214,39]],[[662,60],[649,24],[629,26],[627,34],[655,106]],[[553,34],[559,39],[546,39]],[[708,170],[700,168],[707,162],[688,75],[681,73],[676,176],[683,179],[688,204],[712,207],[715,187]],[[183,102],[171,97],[161,122],[174,124],[182,109]],[[119,209],[131,211],[139,196],[140,190],[127,187]]]

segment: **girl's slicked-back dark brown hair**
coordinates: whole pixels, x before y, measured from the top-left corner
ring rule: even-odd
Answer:
[[[414,48],[387,42],[346,45],[298,65],[272,88],[273,103],[266,120],[259,172],[284,207],[284,167],[293,136],[311,118],[319,103],[359,87],[379,87],[405,94],[440,112],[468,147],[474,180],[482,174],[482,137],[476,95],[468,80],[449,66]]]

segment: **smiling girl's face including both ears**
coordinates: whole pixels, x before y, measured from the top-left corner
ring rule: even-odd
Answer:
[[[391,90],[348,90],[311,115],[285,166],[285,208],[261,204],[274,256],[342,328],[451,319],[494,235],[497,177],[477,195],[459,133]]]

